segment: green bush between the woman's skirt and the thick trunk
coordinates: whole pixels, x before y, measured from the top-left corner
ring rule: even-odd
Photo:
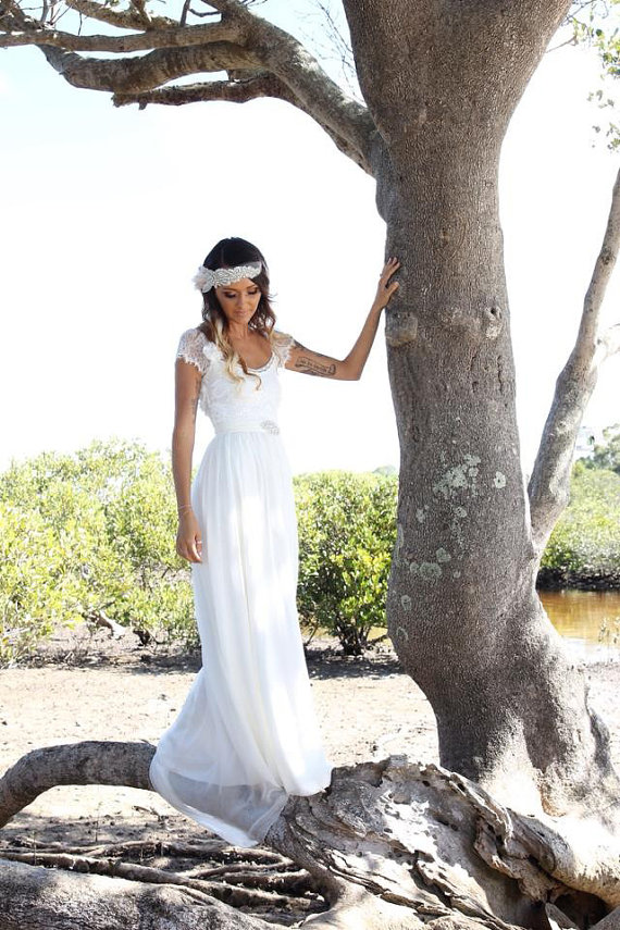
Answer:
[[[347,655],[360,655],[372,628],[385,625],[397,485],[395,476],[338,471],[295,479],[299,613]]]

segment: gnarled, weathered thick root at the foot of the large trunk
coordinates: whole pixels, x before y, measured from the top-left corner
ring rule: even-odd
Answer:
[[[531,926],[541,903],[576,892],[599,898],[598,918],[618,905],[620,838],[593,821],[578,839],[576,822],[516,814],[455,772],[393,756],[292,798],[266,840],[327,889],[352,881],[419,913],[432,897],[485,923]]]

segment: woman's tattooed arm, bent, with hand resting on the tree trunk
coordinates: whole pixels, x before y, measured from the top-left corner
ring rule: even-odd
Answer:
[[[385,263],[379,278],[379,287],[376,296],[372,301],[370,313],[367,317],[361,333],[356,339],[355,346],[345,359],[334,359],[331,356],[314,352],[312,349],[307,349],[306,346],[294,340],[286,368],[289,371],[298,371],[300,374],[333,377],[335,381],[358,381],[361,377],[363,367],[374,343],[381,313],[398,287],[398,282],[395,281],[390,284],[389,278],[398,271],[399,266],[400,262],[395,258],[388,259]]]

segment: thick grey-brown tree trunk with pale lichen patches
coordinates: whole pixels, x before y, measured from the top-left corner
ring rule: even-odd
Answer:
[[[524,810],[605,805],[607,741],[534,588],[498,216],[506,126],[569,3],[345,5],[402,262],[386,328],[401,447],[388,630],[443,765]]]

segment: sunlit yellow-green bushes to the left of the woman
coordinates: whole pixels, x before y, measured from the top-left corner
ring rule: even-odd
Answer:
[[[196,638],[169,467],[139,443],[44,452],[0,475],[0,661],[106,613],[142,638]]]

